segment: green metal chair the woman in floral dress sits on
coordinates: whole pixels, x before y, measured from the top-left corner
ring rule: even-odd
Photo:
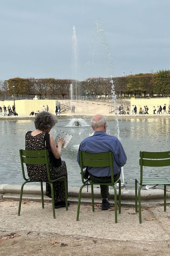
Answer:
[[[22,166],[22,173],[23,178],[25,182],[21,186],[21,192],[20,192],[20,200],[19,200],[19,209],[18,209],[18,216],[20,216],[20,209],[21,209],[21,203],[22,203],[22,195],[23,195],[23,188],[24,185],[28,182],[37,182],[34,180],[30,180],[30,178],[25,177],[24,172],[24,163],[25,164],[46,164],[47,169],[47,177],[48,180],[46,181],[39,181],[41,183],[41,198],[42,198],[42,208],[44,208],[44,196],[43,196],[43,182],[47,182],[51,186],[51,197],[52,197],[52,209],[53,209],[53,218],[56,218],[55,215],[55,203],[54,203],[54,191],[53,191],[53,182],[55,181],[64,181],[65,185],[65,197],[66,197],[66,210],[68,210],[68,202],[67,202],[67,182],[65,177],[57,178],[56,180],[51,180],[50,173],[49,173],[49,158],[48,158],[48,150],[19,150],[20,153],[20,160],[21,160],[21,166]]]

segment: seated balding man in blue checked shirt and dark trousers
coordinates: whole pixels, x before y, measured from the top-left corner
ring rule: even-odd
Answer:
[[[107,122],[103,115],[95,115],[91,119],[91,127],[94,130],[94,135],[85,138],[80,146],[79,151],[88,153],[113,152],[113,174],[114,181],[117,181],[121,175],[121,167],[126,164],[126,154],[121,142],[115,136],[106,134]],[[77,162],[80,165],[79,152],[77,154]],[[111,182],[110,167],[88,167],[88,172],[91,181],[94,182]],[[108,202],[109,186],[100,185],[102,198],[102,210],[108,210],[111,207]]]

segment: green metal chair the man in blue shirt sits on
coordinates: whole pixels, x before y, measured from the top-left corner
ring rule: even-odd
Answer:
[[[81,168],[81,180],[83,185],[80,187],[79,190],[79,202],[77,207],[77,221],[79,220],[79,212],[80,212],[80,203],[81,203],[81,191],[84,186],[91,185],[91,198],[92,198],[92,210],[94,212],[94,191],[93,191],[93,185],[109,185],[112,186],[114,189],[114,203],[115,203],[115,223],[117,223],[117,190],[115,188],[115,183],[119,183],[119,213],[121,213],[121,180],[120,178],[114,182],[113,177],[113,154],[112,152],[106,152],[106,153],[97,153],[97,154],[91,154],[86,153],[83,151],[79,151],[80,156],[80,168]],[[111,172],[111,179],[112,182],[109,183],[98,183],[93,182],[91,180],[84,180],[83,176],[83,166],[87,167],[110,167]]]

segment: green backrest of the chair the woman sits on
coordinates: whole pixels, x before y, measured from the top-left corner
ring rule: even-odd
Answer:
[[[47,177],[49,182],[51,182],[50,174],[49,174],[49,157],[48,157],[48,150],[19,150],[20,153],[20,160],[22,166],[22,173],[24,180],[28,180],[25,177],[24,172],[24,163],[25,164],[46,164],[47,169]]]

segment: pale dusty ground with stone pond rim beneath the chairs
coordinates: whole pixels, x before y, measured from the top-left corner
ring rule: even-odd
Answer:
[[[69,188],[70,207],[56,209],[45,197],[44,209],[40,186],[25,185],[20,216],[20,185],[0,185],[0,255],[169,255],[170,189],[167,211],[163,191],[143,190],[142,224],[134,208],[134,191],[122,190],[122,212],[114,222],[114,206],[101,211],[100,189],[95,189],[95,212],[90,190],[83,192],[79,221],[76,221],[79,189]],[[113,190],[112,190],[113,196]],[[150,200],[148,200],[150,198]],[[110,201],[113,203],[113,201]]]

